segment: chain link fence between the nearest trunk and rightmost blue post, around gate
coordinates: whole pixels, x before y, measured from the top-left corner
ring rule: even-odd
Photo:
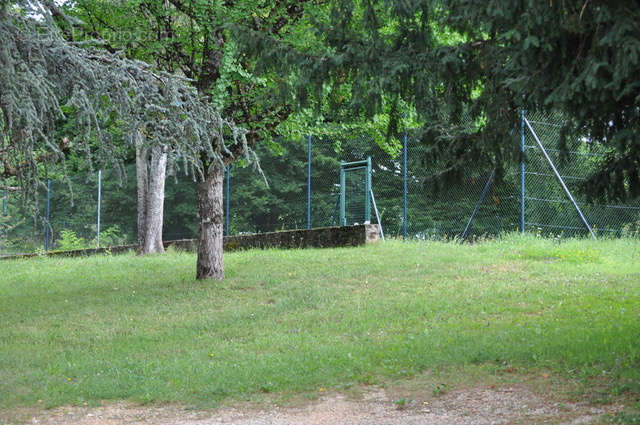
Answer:
[[[308,141],[283,144],[285,152],[280,156],[259,147],[269,186],[250,168],[231,167],[229,233],[338,225],[340,162],[367,158],[371,158],[372,190],[387,236],[419,239],[460,236],[476,207],[468,236],[517,229],[519,207],[518,194],[511,190],[517,187],[513,175],[511,181],[492,182],[478,205],[492,172],[489,166],[469,168],[456,181],[442,184],[443,170],[425,161],[426,148],[411,135],[404,142],[408,151],[405,172],[403,142],[398,140],[397,146],[385,145],[383,149],[367,137],[340,141],[312,138],[310,223],[306,216]],[[372,221],[375,221],[373,213]]]

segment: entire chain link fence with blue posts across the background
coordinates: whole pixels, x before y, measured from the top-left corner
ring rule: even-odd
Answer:
[[[242,162],[227,170],[226,233],[338,225],[341,161],[371,158],[371,188],[387,237],[476,238],[522,230],[523,224],[525,231],[545,235],[589,235],[542,145],[595,234],[637,236],[640,200],[624,205],[587,202],[584,183],[607,148],[587,137],[567,138],[561,146],[564,121],[558,114],[527,114],[526,123],[522,133],[505,137],[506,142],[523,143],[524,174],[521,164],[513,163],[499,178],[489,165],[467,164],[455,178],[443,179],[447,168],[430,159],[429,147],[410,133],[383,143],[384,149],[364,136],[311,137],[275,149],[259,145],[264,176]],[[40,185],[36,206],[21,203],[20,188],[5,183],[0,254],[135,243],[135,183],[133,165],[123,180],[109,171],[51,179]],[[169,176],[164,239],[193,238],[197,231],[193,177]]]

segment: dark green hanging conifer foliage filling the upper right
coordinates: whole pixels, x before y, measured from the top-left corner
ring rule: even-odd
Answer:
[[[343,108],[374,116],[410,105],[429,158],[455,171],[519,158],[509,137],[520,109],[567,115],[566,138],[614,148],[589,191],[612,200],[640,191],[640,5],[637,1],[339,0],[317,11],[324,49],[287,56],[302,86],[340,92]],[[344,93],[347,92],[347,94]],[[411,109],[411,108],[409,108]],[[399,119],[389,109],[390,127]],[[404,112],[404,111],[402,111]],[[470,118],[474,125],[465,125]],[[443,178],[455,177],[455,174]]]

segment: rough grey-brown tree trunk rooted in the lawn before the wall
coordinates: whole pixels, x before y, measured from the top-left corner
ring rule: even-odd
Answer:
[[[207,171],[204,181],[198,182],[200,234],[196,277],[222,280],[224,279],[222,261],[224,165],[216,161]]]

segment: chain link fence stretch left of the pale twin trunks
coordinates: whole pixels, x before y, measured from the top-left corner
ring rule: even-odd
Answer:
[[[4,236],[0,238],[0,254],[95,248],[99,242],[101,246],[114,246],[135,240],[135,188],[131,191],[126,184],[120,186],[111,173],[43,180],[36,205],[23,202],[19,187],[12,189],[2,193]]]

